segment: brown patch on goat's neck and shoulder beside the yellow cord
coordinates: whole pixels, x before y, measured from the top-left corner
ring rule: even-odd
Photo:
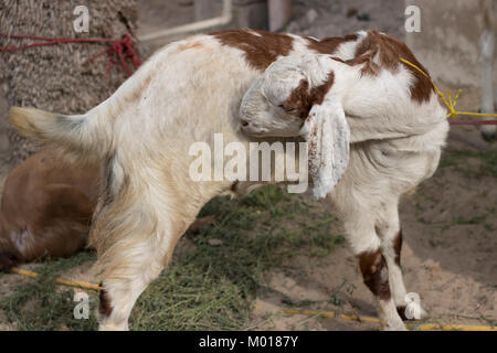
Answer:
[[[368,35],[357,46],[355,58],[346,61],[346,63],[351,65],[363,64],[362,74],[378,75],[381,69],[396,72],[403,64],[400,57],[411,62],[427,74],[427,71],[420,64],[408,45],[392,35],[380,34],[377,31],[368,32]],[[430,100],[430,96],[434,92],[430,78],[410,65],[405,65],[405,68],[414,76],[411,98],[417,103]]]

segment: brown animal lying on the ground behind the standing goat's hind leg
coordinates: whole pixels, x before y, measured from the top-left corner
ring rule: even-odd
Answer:
[[[7,178],[0,210],[0,269],[66,257],[87,245],[99,168],[36,153]]]

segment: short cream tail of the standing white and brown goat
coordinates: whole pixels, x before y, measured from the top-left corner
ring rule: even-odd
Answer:
[[[76,159],[101,159],[110,148],[110,127],[109,121],[101,124],[97,108],[86,115],[70,116],[12,107],[9,121],[22,136],[64,154]]]

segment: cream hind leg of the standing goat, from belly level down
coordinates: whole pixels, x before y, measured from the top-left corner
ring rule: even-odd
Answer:
[[[146,213],[145,210],[123,212],[121,207],[118,208],[109,212],[104,207],[95,226],[99,234],[93,234],[103,286],[97,312],[99,330],[128,329],[128,318],[136,300],[160,275],[188,227],[188,224],[184,227],[172,226],[172,221],[180,220],[180,215],[162,212],[157,217],[154,216],[157,213]],[[114,228],[105,228],[105,223],[114,224]],[[101,224],[104,229],[98,229]]]

